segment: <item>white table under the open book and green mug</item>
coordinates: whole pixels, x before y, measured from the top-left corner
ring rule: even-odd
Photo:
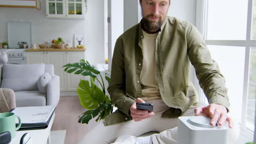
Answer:
[[[55,112],[53,114],[53,117],[51,117],[50,123],[46,129],[16,131],[16,136],[14,137],[13,140],[11,140],[10,144],[19,144],[21,136],[24,135],[25,133],[30,134],[32,143],[50,144],[50,131],[51,131],[51,126],[53,125],[54,118],[55,118]]]

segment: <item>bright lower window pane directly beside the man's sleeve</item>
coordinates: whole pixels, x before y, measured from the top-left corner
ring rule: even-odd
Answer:
[[[232,117],[241,121],[245,47],[208,45],[226,80]]]

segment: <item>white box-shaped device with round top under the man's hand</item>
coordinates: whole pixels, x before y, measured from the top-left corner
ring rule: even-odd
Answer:
[[[178,144],[226,144],[228,128],[210,125],[205,116],[178,118]]]

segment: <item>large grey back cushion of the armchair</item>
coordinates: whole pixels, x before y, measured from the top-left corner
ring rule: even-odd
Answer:
[[[15,92],[38,90],[37,81],[44,71],[45,64],[4,64],[1,87]]]

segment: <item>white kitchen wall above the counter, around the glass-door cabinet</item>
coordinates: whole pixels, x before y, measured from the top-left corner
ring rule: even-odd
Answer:
[[[0,43],[7,41],[7,22],[32,22],[32,44],[62,37],[73,43],[74,33],[85,35],[85,58],[90,63],[104,62],[104,5],[101,0],[88,1],[83,20],[49,19],[46,17],[45,0],[41,9],[0,8]]]

